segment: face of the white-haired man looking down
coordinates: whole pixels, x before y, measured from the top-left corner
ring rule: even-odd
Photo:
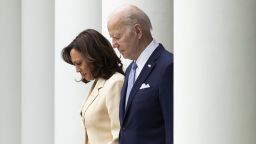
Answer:
[[[124,58],[134,60],[138,41],[133,27],[122,24],[120,20],[112,19],[108,22],[108,32],[112,38],[113,48],[117,48]]]

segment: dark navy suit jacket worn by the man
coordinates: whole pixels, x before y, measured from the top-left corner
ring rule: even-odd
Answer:
[[[159,46],[125,97],[131,65],[120,100],[120,144],[173,144],[173,55]],[[140,89],[141,85],[150,87]]]

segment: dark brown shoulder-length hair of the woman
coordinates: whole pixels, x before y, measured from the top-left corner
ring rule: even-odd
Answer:
[[[62,58],[65,62],[74,65],[71,61],[72,49],[81,53],[86,59],[94,78],[109,79],[115,72],[124,74],[123,64],[117,57],[110,42],[99,32],[87,29],[81,32],[67,47],[62,50]],[[84,83],[88,81],[82,79]]]

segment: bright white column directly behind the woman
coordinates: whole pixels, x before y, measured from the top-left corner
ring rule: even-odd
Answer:
[[[101,0],[55,0],[55,144],[83,143],[80,105],[91,83],[75,82],[79,76],[61,50],[88,28],[101,32]]]

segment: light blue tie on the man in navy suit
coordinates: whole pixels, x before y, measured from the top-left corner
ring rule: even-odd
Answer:
[[[137,67],[138,66],[137,66],[136,62],[133,62],[132,68],[131,68],[131,71],[130,71],[130,74],[129,74],[129,79],[128,79],[128,86],[127,86],[126,99],[125,99],[125,108],[126,108],[126,105],[128,103],[128,99],[129,99],[130,92],[132,90],[133,84],[135,82],[135,73],[136,73]]]

